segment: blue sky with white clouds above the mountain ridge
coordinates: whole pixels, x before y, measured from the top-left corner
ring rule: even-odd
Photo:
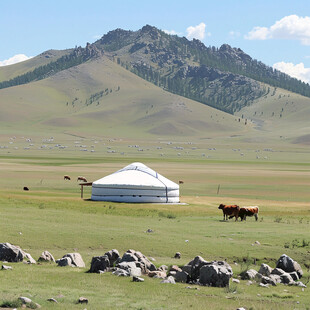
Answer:
[[[0,0],[0,12],[0,65],[150,24],[207,46],[228,43],[310,81],[309,0]]]

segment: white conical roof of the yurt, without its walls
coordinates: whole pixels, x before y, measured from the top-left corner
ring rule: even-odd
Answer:
[[[132,163],[95,182],[94,187],[179,189],[179,185],[160,175],[142,163]]]

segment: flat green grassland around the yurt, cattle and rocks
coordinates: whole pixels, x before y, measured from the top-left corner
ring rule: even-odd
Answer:
[[[139,141],[143,152],[128,147],[131,142],[106,140],[95,144],[91,139],[84,140],[88,148],[96,145],[94,153],[80,152],[73,140],[62,140],[61,145],[68,145],[64,149],[38,150],[33,143],[25,151],[26,142],[16,137],[13,145],[0,150],[1,242],[19,245],[35,259],[44,250],[56,259],[79,252],[86,264],[85,269],[77,269],[7,263],[13,270],[0,270],[2,304],[26,296],[44,309],[310,308],[308,288],[282,284],[263,288],[241,280],[223,289],[161,284],[159,279],[148,277],[143,283],[134,283],[131,278],[111,273],[87,273],[92,257],[110,249],[117,249],[121,255],[128,249],[139,250],[153,257],[157,267],[182,266],[197,255],[206,260],[226,260],[235,278],[245,269],[258,270],[261,263],[275,267],[285,253],[301,264],[301,280],[309,284],[307,148],[301,149],[297,159],[292,158],[288,146],[279,146],[281,152],[261,150],[270,153],[269,158],[257,159],[257,147],[246,149],[242,143],[236,155],[230,146],[220,142],[216,145],[216,141],[212,151],[210,144],[199,141],[189,145],[185,141]],[[117,153],[108,153],[110,145]],[[176,150],[176,145],[184,149]],[[240,156],[242,149],[244,155]],[[202,152],[211,155],[202,156]],[[182,204],[92,202],[90,187],[85,188],[84,199],[80,198],[77,176],[94,181],[134,161],[145,163],[175,182],[183,180]],[[65,174],[71,176],[71,181],[63,180]],[[23,186],[30,191],[23,191]],[[259,220],[223,221],[217,208],[220,203],[258,205]],[[146,233],[147,229],[153,233]],[[173,258],[176,252],[181,252],[180,260]],[[87,306],[76,303],[80,296],[88,298]],[[58,304],[47,301],[52,297]]]

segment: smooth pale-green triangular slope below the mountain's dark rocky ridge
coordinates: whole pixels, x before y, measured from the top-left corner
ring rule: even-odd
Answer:
[[[85,105],[91,94],[105,89],[109,89],[107,95]],[[2,126],[8,131],[10,127],[30,132],[40,128],[42,132],[154,137],[246,130],[235,117],[165,92],[105,57],[45,80],[3,89],[0,105]]]

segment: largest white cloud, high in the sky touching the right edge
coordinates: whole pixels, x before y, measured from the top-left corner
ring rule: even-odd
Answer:
[[[310,45],[310,17],[285,16],[268,27],[254,27],[246,36],[248,40],[286,39],[299,40]]]

